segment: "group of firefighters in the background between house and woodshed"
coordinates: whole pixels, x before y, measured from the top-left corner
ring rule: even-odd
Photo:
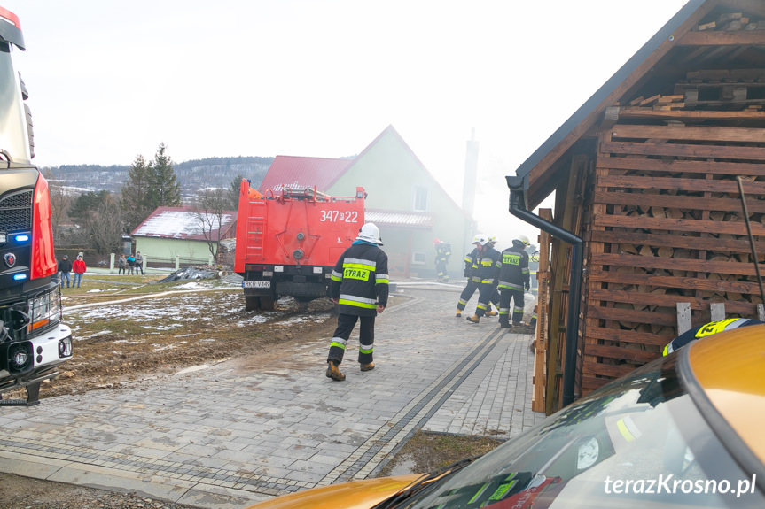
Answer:
[[[446,274],[446,257],[442,254],[449,252],[439,239],[434,239],[436,247],[436,277],[444,281]],[[522,326],[524,312],[524,292],[531,287],[528,272],[529,242],[525,235],[519,235],[512,241],[511,247],[500,252],[495,249],[496,238],[490,235],[478,234],[472,238],[475,246],[464,258],[464,277],[468,278],[457,302],[457,317],[462,316],[467,302],[478,290],[478,304],[475,313],[466,317],[471,323],[479,323],[483,316],[499,314],[499,324],[502,328]],[[449,244],[446,244],[447,246]],[[450,252],[449,252],[450,254]],[[448,256],[448,255],[446,255]],[[446,280],[449,281],[446,275]],[[511,305],[512,303],[512,312]],[[494,304],[499,312],[493,311]]]

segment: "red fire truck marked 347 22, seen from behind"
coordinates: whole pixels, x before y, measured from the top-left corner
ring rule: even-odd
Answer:
[[[278,297],[327,297],[332,267],[363,225],[364,197],[363,188],[330,197],[287,186],[262,195],[243,180],[234,270],[244,277],[246,309],[272,310]]]

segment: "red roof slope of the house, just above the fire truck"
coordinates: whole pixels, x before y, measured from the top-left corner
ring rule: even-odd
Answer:
[[[265,193],[266,189],[271,189],[277,195],[281,194],[283,186],[316,187],[319,191],[326,191],[353,162],[353,159],[277,156],[258,190]]]

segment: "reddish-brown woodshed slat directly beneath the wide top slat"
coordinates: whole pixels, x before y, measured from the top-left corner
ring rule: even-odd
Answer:
[[[683,143],[602,143],[599,151],[606,154],[638,156],[674,156],[683,158],[724,158],[765,161],[765,149],[729,145],[687,145]]]

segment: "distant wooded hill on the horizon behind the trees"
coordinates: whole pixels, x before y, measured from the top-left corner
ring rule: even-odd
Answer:
[[[253,187],[257,188],[273,160],[243,156],[205,158],[173,163],[173,167],[181,184],[181,195],[191,197],[203,188],[229,189],[238,174],[253,181]],[[127,179],[130,166],[62,165],[40,169],[62,186],[90,191],[106,189],[116,193]]]

